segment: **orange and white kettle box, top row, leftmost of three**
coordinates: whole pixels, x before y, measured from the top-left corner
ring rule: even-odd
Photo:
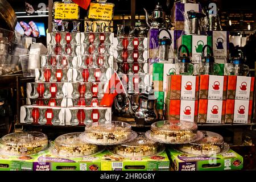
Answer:
[[[170,100],[198,100],[199,76],[168,75],[167,98]]]

